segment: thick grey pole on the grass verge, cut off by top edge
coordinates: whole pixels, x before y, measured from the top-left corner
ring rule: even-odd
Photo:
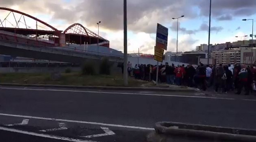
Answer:
[[[128,85],[127,71],[127,0],[124,0],[124,85]]]

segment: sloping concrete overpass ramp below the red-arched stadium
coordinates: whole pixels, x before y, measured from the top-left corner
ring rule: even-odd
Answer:
[[[113,62],[123,61],[121,56],[118,57],[103,53],[95,55],[81,51],[65,50],[64,48],[28,45],[2,39],[0,39],[0,54],[71,63],[83,63],[86,60],[101,60],[103,57],[108,57]]]

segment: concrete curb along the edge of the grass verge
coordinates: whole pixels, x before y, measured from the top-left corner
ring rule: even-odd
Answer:
[[[19,84],[19,83],[0,83],[2,86],[32,86],[32,87],[63,87],[63,88],[85,88],[100,90],[139,90],[139,91],[183,91],[199,92],[197,88],[159,88],[159,87],[114,87],[114,86],[76,86],[76,85],[51,85],[51,84]]]

